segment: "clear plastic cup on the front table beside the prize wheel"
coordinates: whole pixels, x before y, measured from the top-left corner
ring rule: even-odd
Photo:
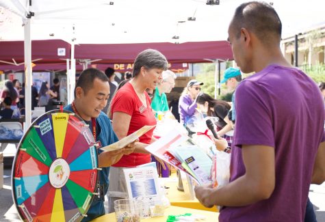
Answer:
[[[114,201],[117,222],[139,222],[143,202],[140,199],[118,199]]]

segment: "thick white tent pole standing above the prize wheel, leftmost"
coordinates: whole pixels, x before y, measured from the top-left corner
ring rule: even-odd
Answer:
[[[31,19],[27,18],[24,25],[24,59],[25,59],[25,127],[31,125],[31,85],[33,82],[31,70]]]

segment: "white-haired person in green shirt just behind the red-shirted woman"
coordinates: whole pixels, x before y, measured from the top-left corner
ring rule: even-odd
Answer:
[[[162,73],[162,81],[155,88],[155,94],[151,100],[151,107],[154,111],[166,113],[169,111],[166,93],[169,94],[175,87],[176,74],[170,70]]]

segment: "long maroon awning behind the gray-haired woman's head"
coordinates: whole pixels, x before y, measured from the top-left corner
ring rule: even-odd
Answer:
[[[170,63],[200,63],[207,59],[233,59],[231,47],[226,41],[138,43],[138,44],[79,44],[75,46],[78,59],[103,59],[97,63],[133,63],[135,57],[147,48],[157,49]],[[109,62],[108,62],[109,61]]]

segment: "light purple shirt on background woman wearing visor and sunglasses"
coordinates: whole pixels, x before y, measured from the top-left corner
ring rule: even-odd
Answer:
[[[186,124],[190,120],[196,107],[196,102],[192,100],[190,94],[185,94],[179,98],[179,117],[181,117],[182,124]]]

